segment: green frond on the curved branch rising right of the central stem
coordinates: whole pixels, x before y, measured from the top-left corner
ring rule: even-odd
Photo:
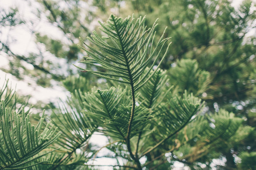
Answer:
[[[201,100],[186,91],[181,97],[173,97],[161,106],[161,114],[159,115],[160,125],[158,129],[164,138],[169,138],[180,131],[191,120],[201,108]]]

